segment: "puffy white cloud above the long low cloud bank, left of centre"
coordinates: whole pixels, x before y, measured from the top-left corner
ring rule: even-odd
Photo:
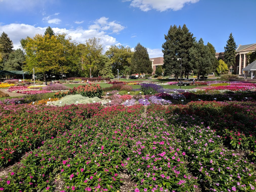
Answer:
[[[108,22],[107,17],[101,17],[99,19],[96,19],[94,21],[93,25],[89,26],[89,29],[96,29],[96,30],[103,30],[103,31],[112,31],[112,33],[119,34],[121,30],[123,30],[125,27],[120,25],[119,23],[116,23],[116,21]]]

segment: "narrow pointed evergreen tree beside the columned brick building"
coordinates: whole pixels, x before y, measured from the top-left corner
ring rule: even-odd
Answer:
[[[224,61],[227,63],[228,67],[234,66],[236,63],[236,49],[237,45],[234,40],[232,33],[230,33],[229,38],[227,40],[226,47],[224,47]]]

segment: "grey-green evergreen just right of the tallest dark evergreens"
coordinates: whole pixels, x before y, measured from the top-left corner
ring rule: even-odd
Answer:
[[[211,60],[213,55],[210,52],[210,48],[204,45],[202,38],[190,48],[189,56],[191,57],[194,72],[197,72],[197,79],[199,80],[200,75],[202,75],[204,80],[205,74],[210,73],[212,70]]]

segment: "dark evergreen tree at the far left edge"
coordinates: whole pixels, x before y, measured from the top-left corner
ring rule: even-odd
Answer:
[[[2,62],[0,63],[0,70],[3,69],[4,63],[8,60],[10,53],[13,51],[13,42],[8,35],[3,32],[0,37],[0,53],[2,55]]]

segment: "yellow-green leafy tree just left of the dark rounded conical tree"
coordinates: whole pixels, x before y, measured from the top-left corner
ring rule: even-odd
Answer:
[[[124,47],[122,45],[111,45],[111,47],[106,51],[105,55],[110,58],[112,73],[116,74],[117,69],[119,69],[119,71],[122,71],[124,69],[124,66],[131,65],[131,58],[133,52],[131,50],[131,47]]]

